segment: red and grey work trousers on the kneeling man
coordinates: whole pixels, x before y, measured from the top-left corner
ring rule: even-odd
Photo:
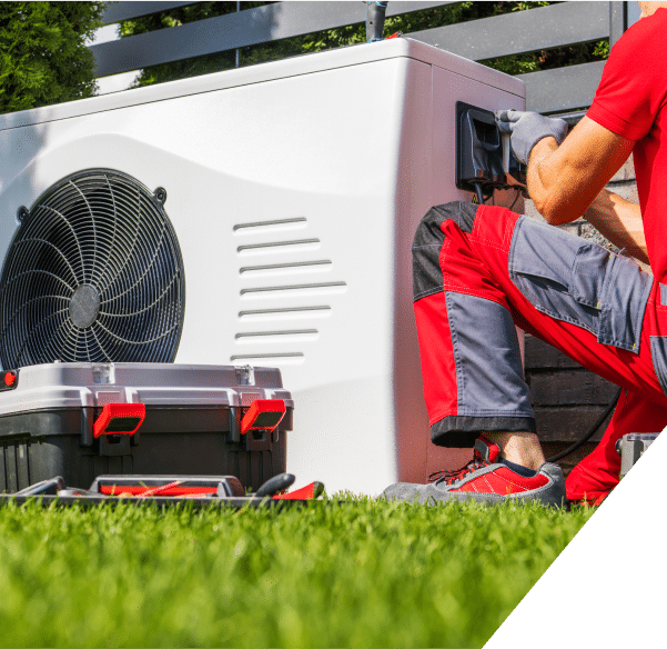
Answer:
[[[599,500],[618,483],[617,439],[667,426],[667,286],[630,259],[505,208],[452,202],[420,223],[413,270],[437,446],[535,432],[515,324],[625,389],[568,476],[570,500]]]

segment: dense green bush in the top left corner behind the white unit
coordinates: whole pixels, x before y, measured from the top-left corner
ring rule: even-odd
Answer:
[[[101,26],[105,4],[0,1],[0,112],[94,94],[85,39]]]

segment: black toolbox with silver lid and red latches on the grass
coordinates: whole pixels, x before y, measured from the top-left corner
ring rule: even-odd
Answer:
[[[53,362],[0,371],[0,491],[62,476],[285,471],[294,403],[280,370]]]

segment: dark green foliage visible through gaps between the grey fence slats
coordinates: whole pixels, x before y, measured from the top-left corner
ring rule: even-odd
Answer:
[[[390,17],[385,22],[385,34],[402,31],[410,36],[411,32],[433,29],[446,24],[455,24],[457,22],[466,22],[469,20],[491,18],[512,11],[525,11],[565,1],[567,0],[459,1],[452,4],[444,4],[404,13],[402,16]],[[271,4],[271,2],[241,2],[241,9],[252,9],[264,4]],[[161,14],[146,16],[125,21],[121,24],[120,33],[122,37],[128,37],[155,29],[178,27],[194,20],[203,20],[205,18],[232,13],[234,11],[236,11],[235,2],[200,1],[196,4],[176,8]],[[286,57],[361,43],[365,41],[365,24],[357,23],[241,48],[239,59],[241,66],[251,66],[254,63],[284,59]],[[542,50],[538,52],[515,54],[482,62],[509,74],[521,74],[602,60],[607,56],[608,43],[606,41],[600,41],[598,43],[582,43]],[[149,86],[151,83],[171,81],[174,79],[234,68],[235,58],[235,50],[230,50],[226,52],[178,61],[175,63],[155,66],[143,70],[138,78],[135,86]]]

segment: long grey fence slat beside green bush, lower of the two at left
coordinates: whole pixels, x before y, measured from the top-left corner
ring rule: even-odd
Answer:
[[[387,16],[451,4],[454,1],[390,2]],[[91,46],[90,49],[95,57],[95,77],[107,77],[365,20],[366,9],[361,2],[285,0],[180,27],[140,33]]]

